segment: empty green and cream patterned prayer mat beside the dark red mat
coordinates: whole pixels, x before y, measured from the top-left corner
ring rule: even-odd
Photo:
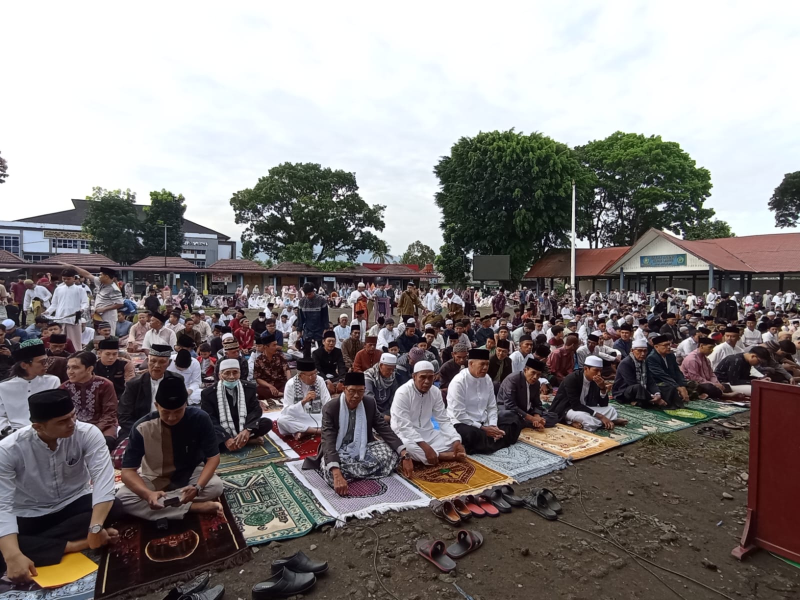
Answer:
[[[285,466],[242,465],[219,476],[248,546],[299,538],[333,521]]]

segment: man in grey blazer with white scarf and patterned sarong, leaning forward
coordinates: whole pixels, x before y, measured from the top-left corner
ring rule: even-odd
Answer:
[[[382,441],[375,439],[376,433]],[[303,468],[319,469],[322,478],[344,496],[348,481],[388,477],[398,461],[402,461],[403,474],[410,477],[414,463],[406,446],[378,412],[375,402],[364,399],[364,374],[346,374],[344,393],[322,409],[318,454],[306,458]]]

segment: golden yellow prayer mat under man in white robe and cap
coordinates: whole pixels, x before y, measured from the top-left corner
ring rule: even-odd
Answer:
[[[436,466],[416,465],[414,475],[410,478],[410,482],[420,490],[439,500],[476,494],[486,488],[513,481],[508,475],[491,470],[471,458],[464,462],[440,462]]]

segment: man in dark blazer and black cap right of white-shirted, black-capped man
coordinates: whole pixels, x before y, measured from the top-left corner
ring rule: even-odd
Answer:
[[[558,422],[558,417],[542,406],[542,387],[550,385],[542,378],[546,368],[544,362],[529,356],[522,371],[510,374],[500,384],[498,406],[516,414],[520,427],[541,431]]]

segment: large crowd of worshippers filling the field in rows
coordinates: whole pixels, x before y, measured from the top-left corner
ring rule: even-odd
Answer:
[[[573,301],[359,283],[337,306],[309,283],[251,321],[244,306],[206,314],[188,283],[179,306],[148,286],[134,318],[114,270],[59,278],[0,281],[0,554],[14,581],[115,542],[122,514],[220,514],[220,453],[274,426],[320,435],[304,468],[346,494],[357,478],[494,452],[526,427],[625,426],[612,397],[662,410],[800,382],[788,291]]]

